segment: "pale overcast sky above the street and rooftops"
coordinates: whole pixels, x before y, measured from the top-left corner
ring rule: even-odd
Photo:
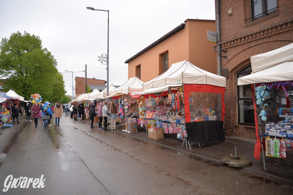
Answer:
[[[64,70],[85,77],[80,71],[87,64],[88,78],[107,80],[98,56],[107,54],[108,13],[86,7],[109,10],[109,85],[125,83],[124,62],[186,19],[215,20],[214,0],[0,0],[0,37],[17,31],[39,36],[71,95],[72,73]]]

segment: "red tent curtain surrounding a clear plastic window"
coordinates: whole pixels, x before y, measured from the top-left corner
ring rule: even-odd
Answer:
[[[207,93],[222,94],[222,121],[224,121],[225,90],[226,90],[226,87],[219,87],[219,86],[214,86],[209,84],[184,84],[185,122],[190,122],[189,92],[207,92]]]

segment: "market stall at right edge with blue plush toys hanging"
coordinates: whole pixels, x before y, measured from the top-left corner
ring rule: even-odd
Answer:
[[[251,56],[252,73],[238,79],[251,84],[255,110],[256,143],[254,157],[286,158],[293,151],[292,88],[293,44]]]

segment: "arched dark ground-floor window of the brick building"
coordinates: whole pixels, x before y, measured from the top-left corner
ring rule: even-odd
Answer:
[[[251,73],[251,65],[247,66],[237,74],[237,78]],[[254,108],[251,85],[237,86],[238,93],[238,124],[254,125]]]

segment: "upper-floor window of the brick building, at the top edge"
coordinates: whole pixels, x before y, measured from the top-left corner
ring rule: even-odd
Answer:
[[[277,11],[277,0],[251,0],[252,19],[257,19]]]

